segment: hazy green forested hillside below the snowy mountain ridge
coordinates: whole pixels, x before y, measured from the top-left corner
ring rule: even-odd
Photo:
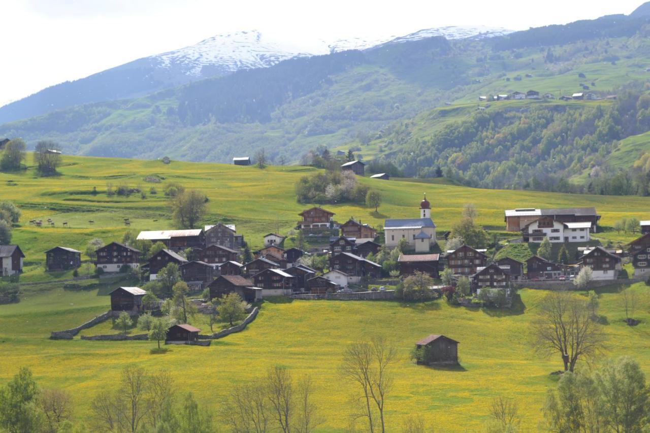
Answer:
[[[227,162],[263,148],[276,164],[308,162],[316,148],[352,148],[407,176],[645,194],[627,168],[650,148],[621,140],[650,130],[648,22],[639,12],[487,40],[439,36],[285,60],[1,125],[0,137],[30,147],[55,140],[66,153],[190,161]],[[480,95],[527,90],[552,98],[476,110]],[[558,100],[587,90],[603,100]],[[623,189],[607,186],[619,174],[610,170],[612,151],[627,161],[611,166],[623,170]]]

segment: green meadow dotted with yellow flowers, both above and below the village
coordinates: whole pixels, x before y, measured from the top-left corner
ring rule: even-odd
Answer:
[[[301,166],[269,166],[263,170],[226,164],[141,161],[90,157],[64,157],[60,176],[40,178],[31,169],[20,174],[0,174],[2,200],[16,202],[23,211],[14,243],[27,256],[21,282],[48,281],[23,286],[18,304],[0,306],[0,384],[18,371],[32,369],[43,387],[68,389],[76,404],[75,415],[87,421],[90,399],[112,387],[121,369],[137,363],[148,369],[166,369],[177,380],[179,391],[192,391],[216,410],[231,387],[261,376],[271,365],[285,365],[296,375],[310,374],[317,384],[317,400],[326,423],[319,431],[342,432],[352,413],[353,387],[341,380],[337,367],[346,345],[372,335],[395,341],[400,358],[395,365],[395,385],[387,400],[389,431],[399,431],[409,414],[421,415],[441,431],[480,430],[487,419],[491,399],[498,395],[519,402],[523,425],[536,430],[541,404],[561,367],[559,358],[543,359],[532,352],[528,326],[545,291],[519,292],[512,311],[465,309],[442,300],[423,304],[403,302],[337,302],[287,299],[266,300],[250,326],[239,334],[213,341],[211,347],[172,347],[166,354],[151,354],[155,343],[49,340],[49,332],[77,326],[106,311],[110,289],[118,283],[82,282],[64,289],[55,280],[69,272],[44,272],[44,251],[57,245],[85,249],[89,239],[119,241],[127,230],[174,228],[164,185],[170,181],[201,190],[209,198],[205,223],[237,224],[253,248],[261,245],[268,231],[286,233],[309,205],[296,203],[294,183],[315,172]],[[144,181],[157,175],[161,183]],[[647,219],[650,202],[642,197],[556,194],[517,190],[471,189],[443,181],[361,179],[380,190],[383,203],[378,212],[362,205],[325,205],[341,222],[349,217],[380,228],[384,218],[415,217],[422,194],[432,203],[432,218],[439,230],[449,230],[465,203],[474,203],[477,221],[487,229],[503,232],[503,210],[513,207],[595,206],[603,215],[602,241],[627,242],[636,235],[616,233],[612,224],[621,217]],[[126,183],[147,193],[128,198],[107,196],[107,183]],[[97,194],[92,194],[93,187]],[[149,194],[155,187],[157,194]],[[55,227],[37,228],[31,219],[55,221]],[[89,221],[94,220],[94,224]],[[62,227],[68,222],[69,228]],[[86,258],[86,257],[83,257]],[[80,272],[85,272],[85,265]],[[650,373],[647,345],[650,298],[643,283],[634,285],[639,294],[642,322],[629,327],[619,287],[601,289],[600,314],[609,337],[606,356],[631,354]],[[201,318],[193,322],[207,332]],[[220,326],[220,325],[218,325]],[[118,332],[110,322],[85,330],[92,335]],[[134,333],[137,331],[133,331]],[[461,368],[433,369],[409,360],[413,343],[428,334],[445,334],[460,341]],[[580,365],[586,369],[586,364]]]

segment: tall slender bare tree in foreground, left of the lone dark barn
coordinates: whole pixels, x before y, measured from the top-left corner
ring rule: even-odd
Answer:
[[[375,410],[379,414],[382,433],[385,432],[385,399],[393,384],[390,367],[396,361],[396,355],[395,346],[381,337],[370,342],[352,343],[344,353],[341,373],[361,387],[364,416],[368,419],[370,432],[375,428]]]

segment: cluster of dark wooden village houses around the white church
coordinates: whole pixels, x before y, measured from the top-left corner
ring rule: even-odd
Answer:
[[[148,271],[149,278],[155,280],[168,263],[176,263],[181,278],[188,285],[197,289],[209,287],[211,297],[237,292],[249,301],[265,296],[330,293],[382,276],[382,266],[367,259],[382,247],[375,228],[354,218],[339,224],[334,220],[335,214],[322,207],[305,209],[299,215],[298,230],[326,237],[336,233],[329,237],[326,252],[312,253],[328,254],[329,270],[324,274],[301,263],[300,258],[309,252],[295,247],[284,248],[285,237],[278,233],[265,235],[264,248],[254,252],[252,261],[240,263],[243,237],[235,226],[221,223],[195,230],[141,231],[137,239],[166,246],[142,267]],[[541,243],[548,239],[552,244],[588,243],[600,219],[593,207],[512,209],[506,210],[504,217],[506,230],[521,233],[519,242]],[[435,229],[426,196],[417,209],[417,218],[385,220],[385,246],[395,248],[402,239],[408,243],[408,251],[398,259],[401,276],[421,271],[439,278],[441,270],[447,267],[455,276],[467,276],[473,291],[477,292],[482,287],[510,287],[510,283],[517,280],[570,279],[582,267],[592,269],[594,280],[616,280],[623,254],[632,257],[635,275],[650,269],[650,221],[641,222],[642,236],[629,244],[629,253],[601,246],[579,247],[581,256],[573,265],[538,256],[530,257],[526,263],[512,257],[491,260],[486,250],[471,245],[432,254],[437,242]],[[188,261],[179,254],[188,248],[194,251],[196,259]],[[47,270],[73,269],[81,265],[81,252],[73,248],[57,246],[45,252],[45,256]],[[3,275],[20,272],[23,257],[18,245],[0,246]],[[96,257],[95,265],[103,272],[141,266],[140,251],[117,242],[99,248]]]

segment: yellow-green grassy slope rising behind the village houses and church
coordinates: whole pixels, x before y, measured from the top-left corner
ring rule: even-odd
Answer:
[[[23,174],[0,174],[3,199],[13,200],[23,209],[21,227],[14,230],[14,242],[21,244],[27,255],[27,272],[23,281],[42,277],[45,250],[56,246],[70,246],[84,250],[88,241],[101,237],[105,242],[120,240],[126,230],[122,218],[131,218],[133,230],[161,230],[174,228],[166,198],[162,194],[165,183],[177,181],[187,188],[200,189],[209,198],[205,222],[223,220],[237,224],[253,247],[261,245],[261,237],[268,231],[286,232],[297,221],[298,213],[307,205],[296,203],[294,183],[315,169],[301,166],[269,166],[259,170],[255,166],[240,167],[226,164],[183,163],[128,159],[65,157],[62,176],[42,179],[28,170]],[[101,176],[94,175],[101,173]],[[146,183],[144,177],[158,174],[162,183]],[[8,182],[11,181],[11,182]],[[478,222],[491,230],[503,230],[503,209],[514,207],[595,206],[603,215],[601,224],[611,226],[624,216],[647,218],[648,198],[555,194],[549,192],[485,190],[448,185],[444,182],[424,182],[415,179],[391,181],[361,179],[361,182],[380,190],[383,203],[375,213],[361,205],[343,203],[326,205],[334,211],[337,220],[361,218],[376,227],[382,227],[384,218],[410,217],[417,211],[422,193],[432,202],[432,216],[439,230],[449,230],[458,219],[465,203],[474,203],[479,209]],[[5,186],[16,184],[14,186]],[[109,197],[104,193],[107,183],[117,186],[127,183],[140,185],[149,192],[151,186],[158,194],[142,200],[134,194],[129,198]],[[92,187],[99,193],[90,194]],[[56,227],[36,228],[32,218],[52,218]],[[89,224],[88,220],[94,220]],[[63,228],[67,221],[70,228]],[[635,235],[601,233],[604,239],[629,241]],[[40,272],[39,272],[40,269]]]

